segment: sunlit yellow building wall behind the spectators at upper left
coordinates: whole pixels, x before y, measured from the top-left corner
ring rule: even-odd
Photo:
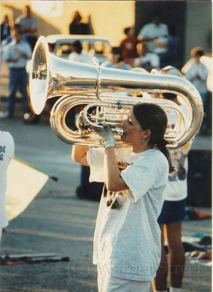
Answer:
[[[38,18],[38,35],[69,34],[73,13],[78,10],[84,22],[91,18],[94,34],[109,37],[112,45],[124,38],[124,27],[135,22],[135,1],[0,1],[0,19],[8,14],[11,23],[22,14],[25,5],[32,7]]]

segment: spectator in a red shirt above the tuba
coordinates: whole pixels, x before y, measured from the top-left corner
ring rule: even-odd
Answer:
[[[137,37],[134,36],[134,27],[124,28],[126,37],[122,40],[120,47],[124,62],[133,67],[134,59],[138,56],[137,53]]]

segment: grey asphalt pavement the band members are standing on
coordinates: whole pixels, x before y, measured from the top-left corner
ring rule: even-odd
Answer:
[[[4,96],[1,110],[6,109]],[[19,102],[15,117],[0,120],[0,128],[13,135],[16,157],[58,178],[49,179],[2,234],[1,256],[40,256],[43,262],[0,265],[0,292],[97,292],[92,241],[98,201],[76,197],[81,166],[71,160],[71,146],[53,134],[48,115],[38,124],[23,123]],[[197,135],[193,147],[212,149],[212,137]],[[212,219],[183,222],[183,236],[197,232],[211,235]],[[51,262],[49,256],[61,260]],[[211,280],[211,260],[186,259],[183,292],[210,292]]]

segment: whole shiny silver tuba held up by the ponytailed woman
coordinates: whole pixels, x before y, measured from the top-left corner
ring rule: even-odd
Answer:
[[[203,104],[189,81],[172,75],[101,68],[96,58],[93,61],[94,65],[88,65],[61,59],[49,53],[45,37],[37,40],[29,79],[31,104],[35,113],[40,114],[47,99],[60,97],[50,117],[53,132],[60,140],[68,144],[100,146],[94,127],[101,127],[105,122],[113,130],[116,145],[125,146],[121,142],[121,123],[133,105],[141,102],[156,103],[166,112],[176,114],[175,128],[167,128],[165,133],[168,148],[183,146],[194,138],[202,123]],[[144,92],[177,94],[187,106],[188,117],[174,102],[145,98]],[[139,93],[142,97],[137,97]],[[77,106],[83,107],[84,132],[72,130],[65,121],[69,110]]]

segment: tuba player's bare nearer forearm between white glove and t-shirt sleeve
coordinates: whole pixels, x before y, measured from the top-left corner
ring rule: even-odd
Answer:
[[[106,148],[104,167],[107,190],[116,192],[123,191],[129,188],[120,175],[120,171],[118,169],[115,158],[114,147]]]

